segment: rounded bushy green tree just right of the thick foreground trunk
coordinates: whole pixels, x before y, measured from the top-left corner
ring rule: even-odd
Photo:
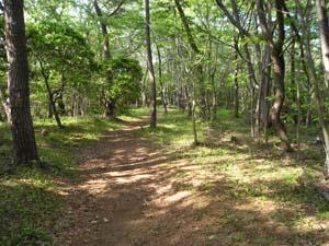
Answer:
[[[68,23],[42,21],[29,26],[29,48],[33,79],[42,78],[48,97],[48,117],[55,117],[63,128],[60,115],[66,115],[64,95],[91,78],[97,70],[94,55],[84,37]]]

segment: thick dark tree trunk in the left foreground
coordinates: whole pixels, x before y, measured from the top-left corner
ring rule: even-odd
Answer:
[[[23,0],[4,0],[8,86],[15,163],[38,160],[31,108]]]

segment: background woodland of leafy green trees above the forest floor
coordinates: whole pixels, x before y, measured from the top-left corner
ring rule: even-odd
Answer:
[[[303,125],[320,126],[329,156],[325,0],[25,1],[35,116],[61,127],[61,116],[148,105],[156,127],[158,98],[186,113],[195,144],[198,122],[211,129],[226,108],[251,140],[268,144],[274,130],[286,152],[303,147]],[[13,115],[3,43],[0,32],[2,120]]]

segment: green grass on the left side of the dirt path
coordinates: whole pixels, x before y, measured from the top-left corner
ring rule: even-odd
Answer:
[[[63,118],[65,128],[53,120],[36,120],[35,132],[41,160],[46,169],[19,167],[0,178],[0,245],[54,245],[57,219],[63,214],[58,180],[79,178],[77,153],[98,142],[121,121],[100,118]],[[46,136],[42,131],[47,132]],[[11,165],[11,133],[0,125],[0,163],[4,172]]]

